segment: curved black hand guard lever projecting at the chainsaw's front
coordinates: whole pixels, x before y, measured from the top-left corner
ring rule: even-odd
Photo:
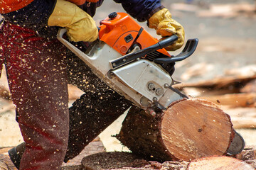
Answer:
[[[182,60],[188,58],[189,56],[191,56],[193,54],[193,52],[195,52],[197,45],[198,45],[197,38],[189,39],[186,42],[186,45],[185,45],[184,49],[182,50],[182,52],[179,53],[178,55],[172,56],[172,57],[165,57],[165,58],[156,58],[153,62],[158,63],[158,64],[169,64],[171,62],[182,61]]]

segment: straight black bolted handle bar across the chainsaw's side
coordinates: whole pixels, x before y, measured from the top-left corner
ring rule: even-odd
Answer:
[[[117,60],[112,60],[110,62],[112,65],[112,69],[116,69],[117,67],[120,67],[123,64],[132,62],[133,60],[136,60],[139,57],[144,57],[145,55],[149,54],[150,52],[154,52],[154,51],[162,49],[164,47],[168,47],[169,45],[173,44],[176,40],[178,40],[178,36],[171,35],[169,38],[161,40],[154,45],[151,45],[142,50],[138,50],[136,52],[129,53],[127,55],[119,57]]]

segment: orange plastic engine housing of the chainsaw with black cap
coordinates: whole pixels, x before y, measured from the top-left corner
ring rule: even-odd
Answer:
[[[141,28],[142,26],[139,26],[127,13],[117,13],[114,18],[107,17],[100,21],[99,38],[121,55],[126,55],[134,44],[144,49],[159,42],[146,30],[140,31]],[[157,51],[171,57],[165,49]]]

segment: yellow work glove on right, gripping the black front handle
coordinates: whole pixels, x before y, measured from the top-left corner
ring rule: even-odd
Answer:
[[[156,29],[156,34],[161,35],[163,40],[165,37],[169,37],[173,34],[178,35],[178,40],[174,44],[165,47],[166,50],[174,51],[182,47],[185,39],[185,32],[183,26],[174,19],[171,18],[171,13],[166,8],[162,8],[160,11],[154,13],[149,18],[149,28]]]

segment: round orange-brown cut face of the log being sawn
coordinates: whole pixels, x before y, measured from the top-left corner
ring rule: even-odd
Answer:
[[[174,103],[161,122],[164,145],[177,159],[223,155],[233,140],[229,115],[215,104],[188,99]]]

